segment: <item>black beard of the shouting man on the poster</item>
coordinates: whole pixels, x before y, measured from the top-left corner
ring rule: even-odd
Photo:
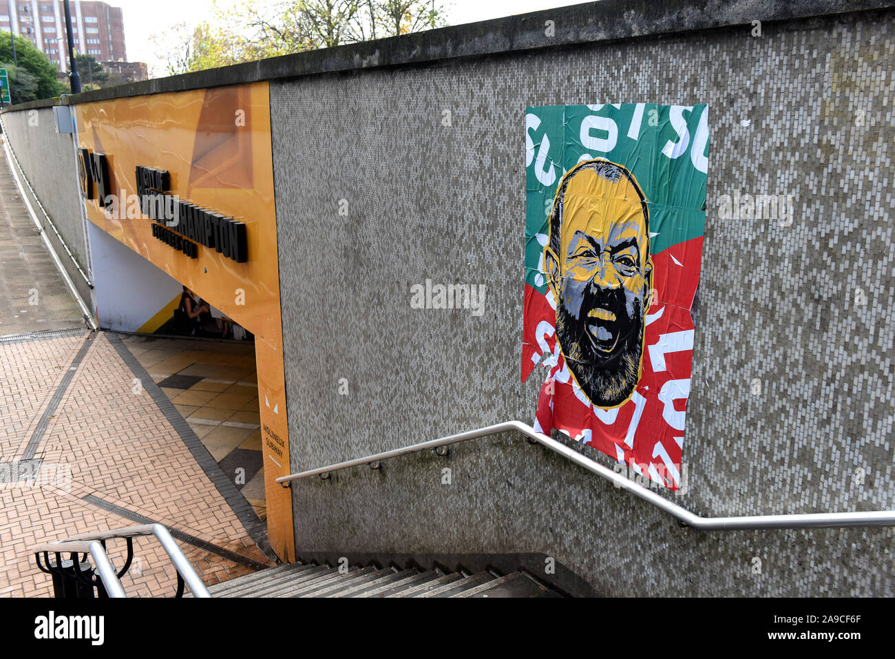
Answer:
[[[619,294],[620,292],[617,292]],[[624,295],[624,294],[620,294]],[[594,407],[616,407],[630,398],[640,379],[640,362],[644,352],[643,307],[635,301],[634,317],[625,320],[630,328],[618,340],[621,345],[609,357],[601,355],[593,347],[587,330],[587,312],[602,307],[615,312],[617,318],[626,316],[624,302],[618,304],[612,293],[598,294],[611,304],[593,304],[585,298],[582,318],[576,320],[562,302],[557,304],[557,338],[562,354],[566,357],[569,371]]]

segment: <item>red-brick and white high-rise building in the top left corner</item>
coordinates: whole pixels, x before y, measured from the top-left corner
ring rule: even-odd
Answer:
[[[127,61],[121,7],[80,0],[72,0],[71,6],[76,55],[91,55],[102,62]],[[12,30],[13,34],[30,39],[59,71],[68,71],[62,0],[0,0],[0,30],[7,33]]]

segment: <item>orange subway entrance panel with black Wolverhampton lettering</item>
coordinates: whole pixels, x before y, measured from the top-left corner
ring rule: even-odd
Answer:
[[[274,482],[289,473],[289,431],[268,83],[86,103],[75,114],[90,222],[255,335],[269,541],[294,561],[292,498]],[[146,178],[141,189],[138,167],[166,172],[152,183],[166,190]],[[183,209],[150,219],[151,195],[166,202],[155,210],[189,207],[189,222]]]

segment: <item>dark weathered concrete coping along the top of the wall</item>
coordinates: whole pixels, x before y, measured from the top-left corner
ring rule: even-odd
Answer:
[[[6,108],[4,112],[321,73],[432,64],[459,58],[751,26],[753,21],[777,23],[892,7],[895,7],[893,0],[601,0],[132,82],[62,98],[21,103]]]

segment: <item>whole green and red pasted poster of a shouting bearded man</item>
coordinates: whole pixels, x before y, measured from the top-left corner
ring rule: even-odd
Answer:
[[[522,378],[536,427],[677,490],[702,261],[708,107],[529,107]]]

